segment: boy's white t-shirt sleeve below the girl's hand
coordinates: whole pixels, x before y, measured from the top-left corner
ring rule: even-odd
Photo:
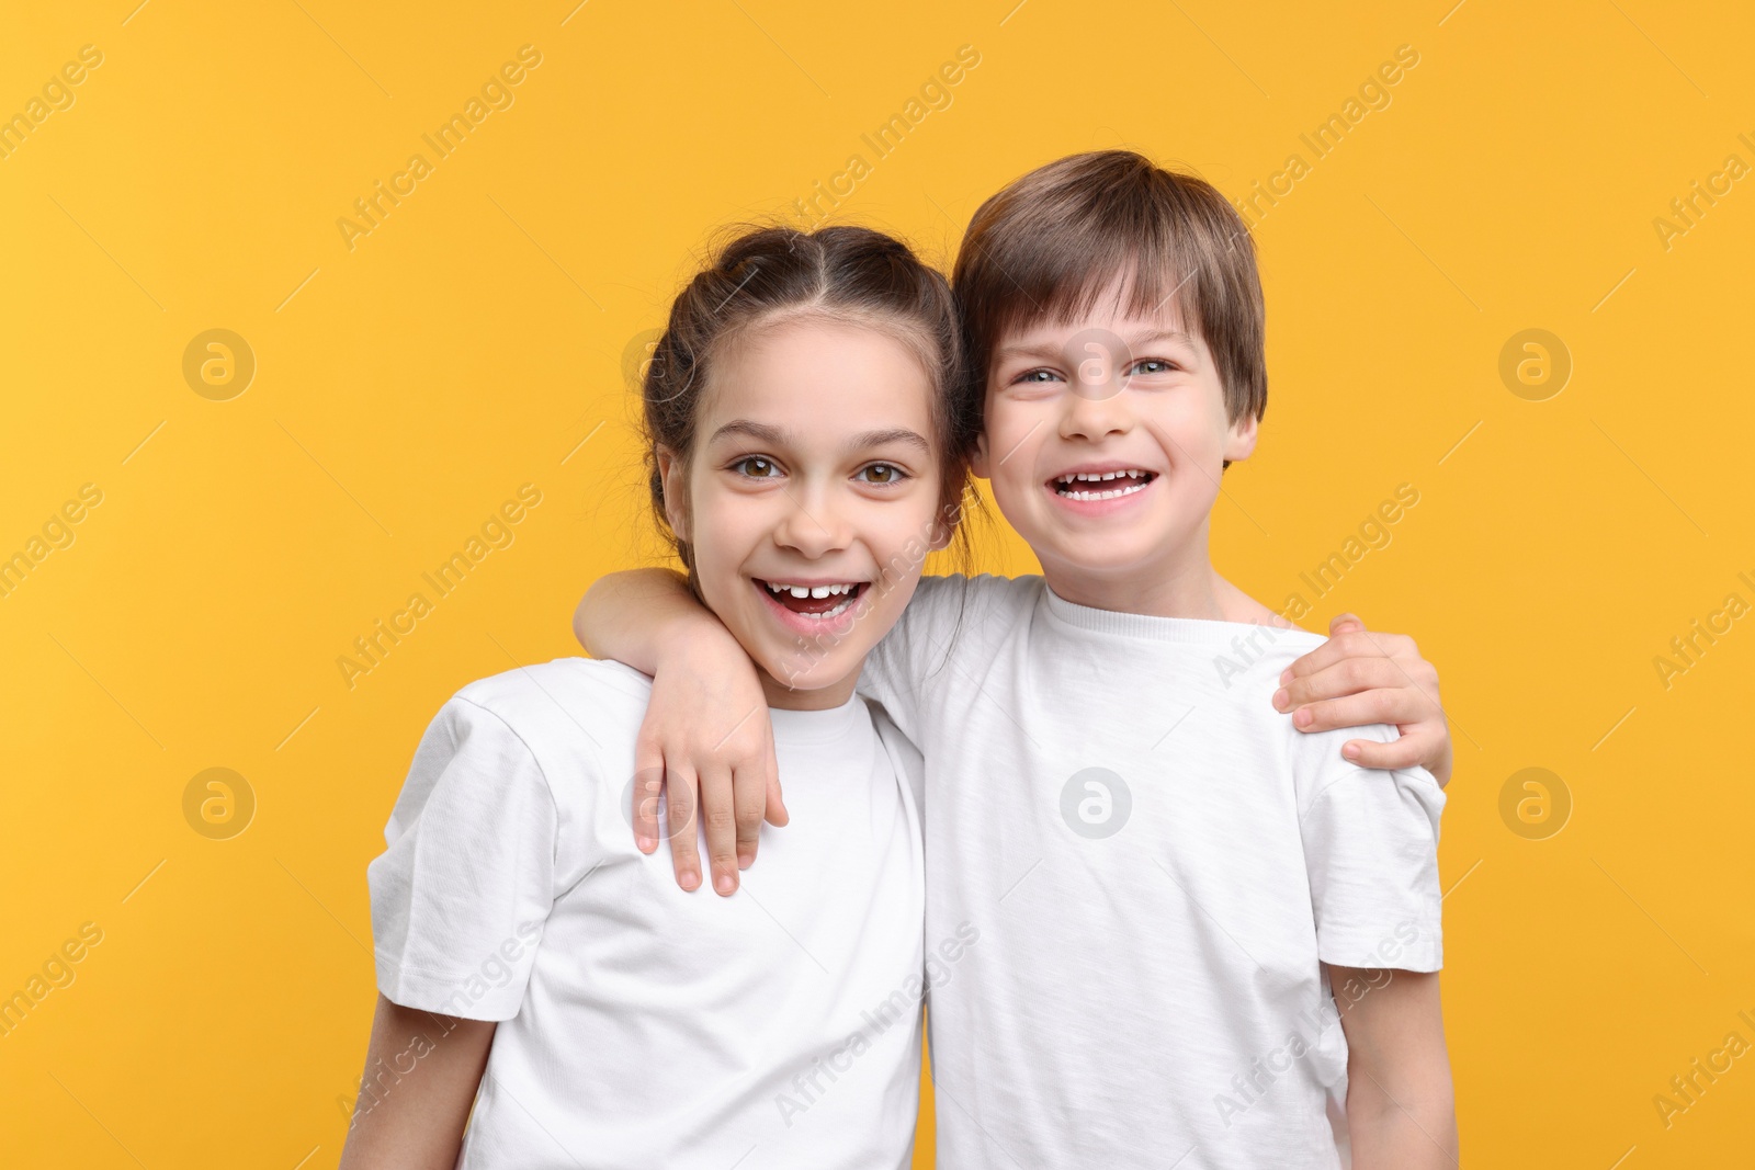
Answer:
[[[1436,972],[1444,967],[1437,835],[1444,791],[1425,768],[1381,772],[1341,756],[1350,738],[1390,742],[1395,728],[1302,737],[1300,831],[1316,952],[1336,967]]]

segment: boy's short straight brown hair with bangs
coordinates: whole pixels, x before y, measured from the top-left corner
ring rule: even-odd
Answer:
[[[1267,358],[1250,230],[1213,184],[1134,151],[1037,167],[976,210],[951,275],[974,398],[1000,337],[1086,316],[1118,275],[1135,314],[1174,298],[1183,326],[1213,351],[1227,417],[1260,419]]]

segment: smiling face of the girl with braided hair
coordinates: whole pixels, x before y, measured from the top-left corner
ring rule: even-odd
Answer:
[[[720,356],[686,468],[658,453],[700,595],[772,705],[844,703],[948,540],[934,393],[888,333],[795,317]]]

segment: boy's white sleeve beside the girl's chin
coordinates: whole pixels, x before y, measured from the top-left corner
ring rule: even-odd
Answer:
[[[1039,589],[1039,577],[921,577],[902,617],[867,654],[860,693],[883,703],[902,735],[920,744],[934,688],[969,686],[995,639],[1035,605]]]

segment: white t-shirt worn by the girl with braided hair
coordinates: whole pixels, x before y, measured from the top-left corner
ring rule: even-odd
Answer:
[[[684,893],[630,828],[649,695],[583,658],[465,686],[367,870],[384,996],[500,1021],[458,1165],[907,1166],[918,754],[858,696],[770,710],[792,826],[730,898]]]

